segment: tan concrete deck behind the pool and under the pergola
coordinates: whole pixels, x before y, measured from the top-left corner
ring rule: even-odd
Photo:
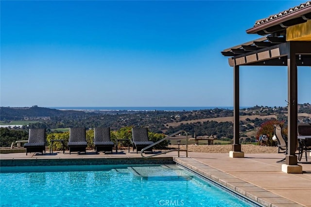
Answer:
[[[281,171],[282,163],[277,160],[284,158],[284,154],[245,154],[244,158],[230,158],[229,154],[220,153],[197,153],[189,152],[188,158],[185,152],[171,152],[158,157],[173,157],[181,164],[204,175],[211,180],[220,183],[227,188],[238,192],[259,204],[267,207],[311,207],[311,161],[306,162],[303,158],[303,174],[286,174]],[[50,155],[36,153],[10,153],[0,154],[2,160],[24,159],[138,159],[140,154],[127,152],[127,149],[118,154],[95,154],[87,151],[86,154],[55,151]],[[155,157],[156,158],[156,157]]]

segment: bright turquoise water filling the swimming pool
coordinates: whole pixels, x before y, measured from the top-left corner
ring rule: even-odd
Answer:
[[[109,165],[2,168],[0,206],[251,207],[252,205],[176,165]]]

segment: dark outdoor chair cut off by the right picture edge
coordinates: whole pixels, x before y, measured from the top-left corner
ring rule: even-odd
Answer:
[[[311,136],[311,124],[298,124],[298,136]],[[306,161],[307,152],[311,152],[311,139],[298,139],[300,146],[300,154],[298,160],[300,161],[303,153],[305,153]]]

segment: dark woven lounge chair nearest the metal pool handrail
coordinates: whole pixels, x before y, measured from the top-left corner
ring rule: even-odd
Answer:
[[[146,146],[149,146],[154,143],[152,141],[149,141],[148,128],[146,127],[133,127],[131,142],[133,144],[133,151],[136,148],[136,153],[138,153],[138,150],[140,151]],[[152,147],[150,147],[149,149],[151,150],[152,153]]]

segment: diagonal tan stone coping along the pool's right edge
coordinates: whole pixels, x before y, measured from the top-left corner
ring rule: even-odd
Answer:
[[[233,175],[191,158],[174,157],[174,161],[191,171],[264,207],[304,207],[294,201],[248,183]]]

